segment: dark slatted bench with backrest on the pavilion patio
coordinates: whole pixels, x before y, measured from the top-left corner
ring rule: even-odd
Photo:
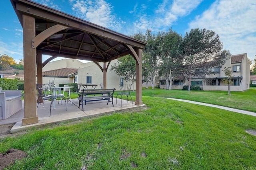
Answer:
[[[82,110],[84,111],[84,105],[86,105],[87,102],[93,102],[93,101],[100,101],[100,100],[108,100],[108,102],[112,102],[113,104],[113,94],[116,89],[83,89],[82,94],[78,97],[79,100],[79,106],[80,103],[82,105]],[[108,104],[108,103],[107,103]]]

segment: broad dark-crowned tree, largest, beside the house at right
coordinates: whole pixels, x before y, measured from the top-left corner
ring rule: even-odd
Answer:
[[[210,73],[211,67],[221,67],[226,61],[228,51],[222,51],[223,45],[214,31],[191,29],[186,32],[180,46],[183,51],[183,75],[188,79],[190,91],[191,78]]]

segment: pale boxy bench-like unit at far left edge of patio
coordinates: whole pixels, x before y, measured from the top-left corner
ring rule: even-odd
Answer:
[[[0,119],[7,119],[22,109],[21,90],[0,88]]]

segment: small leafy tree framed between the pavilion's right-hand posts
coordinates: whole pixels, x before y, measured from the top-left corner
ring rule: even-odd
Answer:
[[[124,80],[132,82],[132,91],[134,91],[134,82],[136,81],[136,61],[131,55],[118,59],[117,66],[112,66],[110,70],[114,70],[119,76],[124,76]]]

